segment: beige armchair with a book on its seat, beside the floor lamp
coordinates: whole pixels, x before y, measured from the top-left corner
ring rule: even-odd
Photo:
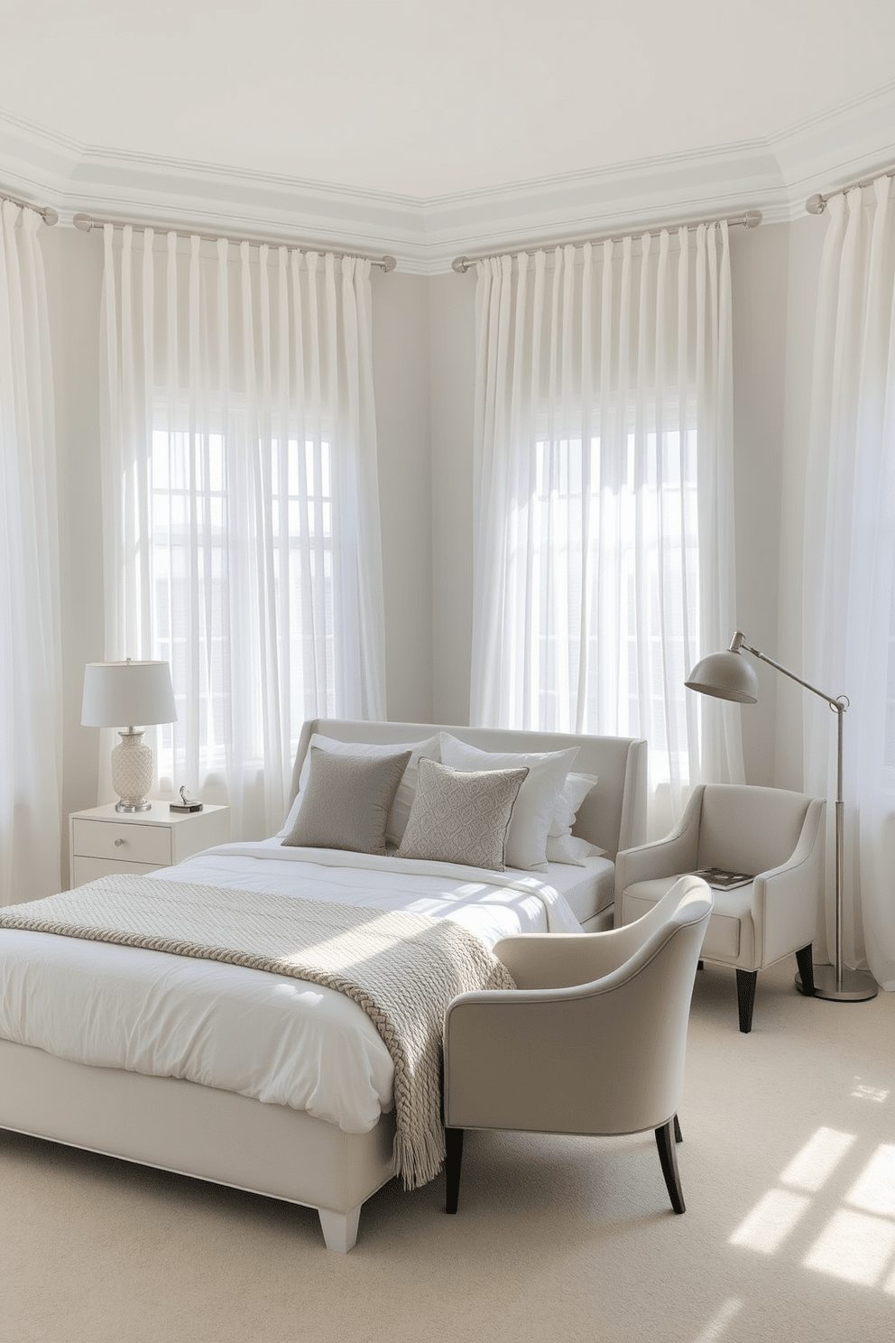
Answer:
[[[802,992],[814,992],[824,811],[823,799],[784,788],[699,784],[667,838],[619,854],[616,927],[652,909],[683,872],[751,876],[745,886],[714,892],[702,951],[706,960],[735,967],[739,1029],[749,1033],[759,970],[796,952]]]

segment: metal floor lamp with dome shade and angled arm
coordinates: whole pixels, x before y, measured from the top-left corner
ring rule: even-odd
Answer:
[[[737,704],[758,702],[758,677],[755,669],[741,657],[742,651],[751,653],[769,666],[782,672],[792,681],[798,681],[806,690],[819,694],[821,700],[836,713],[836,963],[833,966],[814,966],[814,997],[828,998],[832,1002],[864,1002],[875,998],[879,986],[872,975],[863,970],[849,970],[843,966],[843,716],[848,708],[848,698],[840,694],[835,700],[824,694],[816,686],[802,681],[794,672],[789,672],[774,662],[773,658],[750,649],[743,634],[737,630],[726,653],[710,653],[707,658],[696,662],[684,685],[700,694],[711,694],[717,700],[734,700]],[[801,978],[796,976],[796,986],[801,991]]]

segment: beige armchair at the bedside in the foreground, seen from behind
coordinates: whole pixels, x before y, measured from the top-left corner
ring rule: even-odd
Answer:
[[[496,943],[515,990],[462,994],[444,1021],[448,1213],[463,1131],[639,1133],[652,1128],[675,1213],[675,1140],[690,998],[711,890],[683,877],[629,928]]]

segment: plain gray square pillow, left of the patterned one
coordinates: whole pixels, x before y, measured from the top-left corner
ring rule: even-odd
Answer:
[[[409,751],[369,757],[311,747],[305,798],[283,843],[384,854],[392,800],[409,759]]]

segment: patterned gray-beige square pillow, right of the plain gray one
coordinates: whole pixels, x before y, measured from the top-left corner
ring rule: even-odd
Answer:
[[[397,857],[503,872],[513,804],[527,772],[525,767],[467,772],[421,759]]]

